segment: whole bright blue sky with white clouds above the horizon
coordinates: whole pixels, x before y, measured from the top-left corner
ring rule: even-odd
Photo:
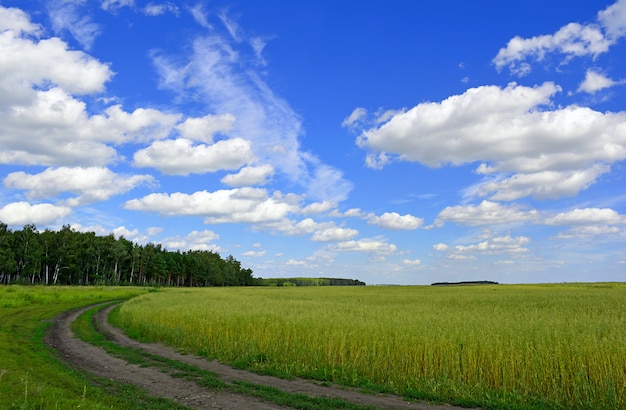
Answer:
[[[626,0],[0,0],[0,221],[257,277],[626,280]]]

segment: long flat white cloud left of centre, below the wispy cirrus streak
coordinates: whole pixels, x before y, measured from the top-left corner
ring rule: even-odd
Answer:
[[[295,207],[279,194],[269,197],[264,189],[235,188],[193,194],[150,194],[127,201],[124,208],[165,216],[201,216],[205,223],[264,223],[282,220]]]

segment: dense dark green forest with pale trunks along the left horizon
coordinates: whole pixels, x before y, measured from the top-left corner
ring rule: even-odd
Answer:
[[[11,230],[0,222],[0,284],[252,286],[261,285],[232,256],[168,251],[123,236],[96,236],[69,225]]]

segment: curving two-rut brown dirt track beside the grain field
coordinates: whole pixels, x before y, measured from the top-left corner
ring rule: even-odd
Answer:
[[[109,355],[100,347],[77,339],[74,337],[70,325],[78,316],[91,307],[88,306],[59,315],[55,320],[55,324],[46,334],[46,344],[56,349],[61,359],[70,367],[86,370],[111,380],[134,384],[145,389],[152,396],[165,397],[194,409],[263,410],[285,408],[247,395],[206,389],[198,386],[193,381],[172,377],[158,368],[129,364],[122,359]],[[217,373],[226,383],[231,383],[235,380],[247,381],[271,386],[284,392],[306,394],[311,397],[340,398],[347,402],[372,406],[377,409],[459,409],[449,405],[407,402],[399,396],[370,395],[340,386],[321,386],[308,380],[285,380],[272,376],[258,375],[233,369],[217,361],[210,361],[193,355],[183,355],[163,345],[139,343],[128,338],[120,329],[114,328],[107,323],[108,313],[113,307],[104,308],[95,316],[99,331],[108,339],[120,346],[139,348],[157,356],[212,371]]]

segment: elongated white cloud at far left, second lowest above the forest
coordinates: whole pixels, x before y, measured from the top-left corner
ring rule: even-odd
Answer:
[[[107,168],[48,168],[39,174],[12,172],[4,179],[7,188],[26,190],[29,199],[58,196],[62,192],[77,194],[64,201],[66,205],[85,205],[105,201],[136,186],[153,184],[151,175],[118,175]]]

